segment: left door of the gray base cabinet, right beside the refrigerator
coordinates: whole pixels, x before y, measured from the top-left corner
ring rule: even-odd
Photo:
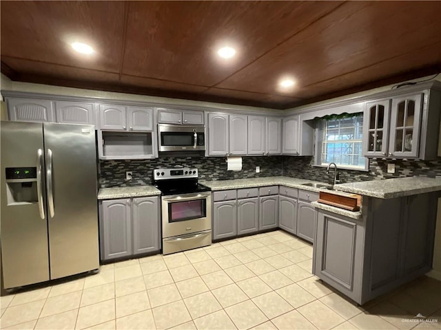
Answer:
[[[101,259],[132,255],[130,199],[103,201],[101,207]]]

